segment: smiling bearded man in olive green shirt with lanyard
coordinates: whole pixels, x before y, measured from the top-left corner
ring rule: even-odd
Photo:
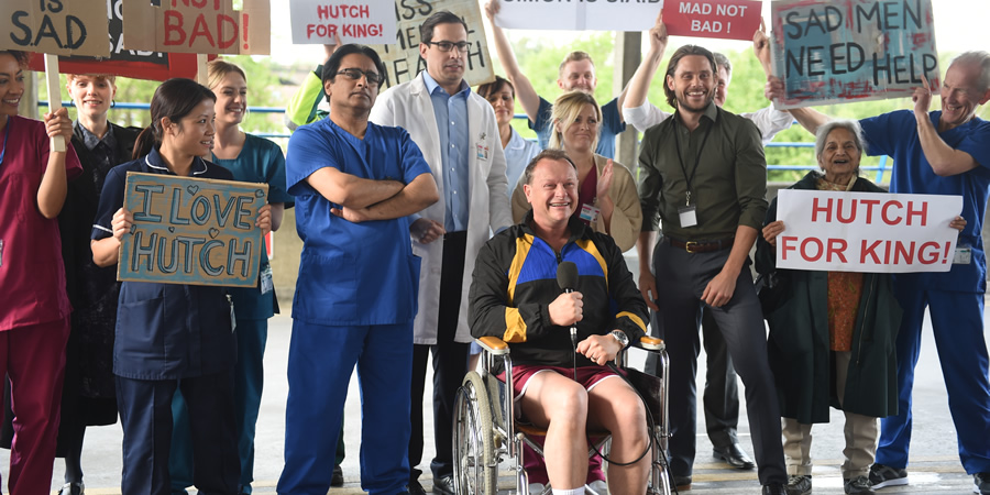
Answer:
[[[659,311],[671,354],[671,472],[678,485],[691,484],[695,452],[695,372],[697,324],[712,312],[729,355],[746,385],[754,453],[763,494],[785,494],[788,482],[780,442],[780,410],[767,361],[767,338],[752,276],[749,250],[767,212],[767,162],[751,121],[718,108],[715,59],[700,46],[683,46],[671,57],[664,92],[678,110],[642,139],[639,197],[644,232],[637,248],[639,289]],[[650,260],[653,232],[663,235]],[[647,221],[649,220],[649,221]]]

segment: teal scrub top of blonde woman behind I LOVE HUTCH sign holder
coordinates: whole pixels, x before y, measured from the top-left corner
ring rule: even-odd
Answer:
[[[277,144],[246,134],[244,147],[237,158],[221,160],[215,156],[213,163],[229,169],[234,180],[267,184],[270,204],[283,202],[286,208],[293,207],[293,197],[285,190],[285,157]],[[262,267],[268,264],[265,250],[261,251],[261,258]],[[265,320],[278,312],[274,289],[267,294],[261,293],[261,286],[230,287],[227,290],[233,299],[238,319]]]

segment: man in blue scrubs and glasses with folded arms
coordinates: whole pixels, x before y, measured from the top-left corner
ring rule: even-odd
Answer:
[[[280,494],[330,488],[348,383],[361,378],[361,487],[405,493],[409,370],[419,258],[410,213],[438,199],[419,147],[367,121],[384,80],[378,55],[341,46],[323,66],[330,116],[289,139],[286,186],[296,197],[302,255],[293,301],[285,468]]]

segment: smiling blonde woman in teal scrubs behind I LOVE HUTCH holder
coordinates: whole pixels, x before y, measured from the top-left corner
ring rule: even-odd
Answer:
[[[205,157],[233,174],[234,180],[268,185],[272,231],[282,224],[285,206],[293,198],[285,190],[285,156],[277,144],[241,129],[248,112],[248,76],[230,62],[210,61],[207,85],[217,95],[213,147]],[[264,250],[257,286],[229,288],[234,305],[238,333],[238,362],[234,367],[234,413],[237,414],[238,455],[241,460],[239,491],[251,493],[254,481],[254,431],[264,383],[263,360],[268,336],[268,318],[278,312],[272,284],[272,270]],[[189,417],[180,392],[172,405],[175,424],[168,464],[173,493],[193,485],[193,449]]]

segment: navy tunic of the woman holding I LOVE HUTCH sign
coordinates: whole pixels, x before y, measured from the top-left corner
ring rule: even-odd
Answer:
[[[152,152],[110,169],[103,183],[94,240],[112,235],[110,222],[124,202],[128,172],[175,175]],[[231,180],[230,170],[200,158],[193,177]],[[238,358],[223,287],[124,282],[113,342],[113,373],[133,380],[175,380],[229,370]]]

